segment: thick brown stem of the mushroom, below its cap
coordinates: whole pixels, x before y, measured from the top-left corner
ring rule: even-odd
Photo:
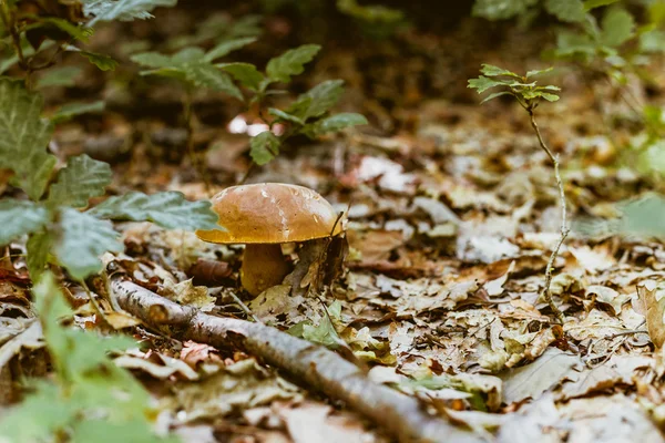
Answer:
[[[288,274],[288,264],[279,244],[249,244],[245,246],[241,282],[253,296],[282,284]]]

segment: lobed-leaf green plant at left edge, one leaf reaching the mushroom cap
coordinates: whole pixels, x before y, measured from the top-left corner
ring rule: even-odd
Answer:
[[[0,79],[0,168],[11,169],[11,184],[30,198],[0,200],[0,245],[28,235],[27,262],[34,280],[48,261],[63,266],[76,280],[99,272],[100,255],[123,249],[106,219],[151,220],[171,229],[217,228],[209,202],[187,202],[174,192],[129,193],[82,212],[90,198],[104,195],[111,168],[80,155],[55,174],[55,156],[47,151],[53,123],[41,112],[41,95],[27,91],[21,81]]]

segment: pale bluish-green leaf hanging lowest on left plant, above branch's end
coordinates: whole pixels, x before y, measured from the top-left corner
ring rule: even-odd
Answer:
[[[109,222],[73,208],[61,209],[60,230],[54,254],[60,265],[76,280],[102,270],[102,254],[124,249]]]

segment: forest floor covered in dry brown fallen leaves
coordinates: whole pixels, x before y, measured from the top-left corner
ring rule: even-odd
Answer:
[[[174,13],[165,14],[177,23]],[[99,32],[98,44],[106,48],[127,30],[122,27]],[[150,27],[137,23],[133,32],[157,32]],[[296,140],[246,178],[307,186],[348,210],[344,272],[318,297],[294,297],[287,286],[244,297],[237,289],[242,247],[150,224],[116,224],[126,250],[105,260],[137,285],[205,312],[247,318],[233,292],[256,319],[278,329],[309,320],[309,337],[324,342],[334,333],[321,326],[329,320],[370,379],[481,437],[663,441],[663,365],[652,339],[665,329],[657,302],[665,295],[663,244],[616,236],[602,224],[591,225],[591,233],[589,226],[573,229],[554,262],[552,293],[565,315],[563,324],[557,321],[540,298],[559,239],[552,165],[519,105],[507,100],[481,106],[466,89],[481,62],[518,72],[542,68],[538,47],[544,37],[510,30],[489,50],[482,49],[487,35],[456,45],[475,31],[460,27],[453,35],[412,33],[398,43],[329,48],[296,85],[341,78],[348,89],[339,109],[364,113],[371,123],[316,143]],[[222,95],[195,95],[206,188],[183,159],[180,91],[122,71],[104,78],[85,70],[75,87],[49,91],[48,103],[95,94],[108,111],[59,126],[52,148],[62,158],[85,152],[110,161],[111,194],[180,190],[202,199],[245,177],[246,131],[260,125],[258,116]],[[649,97],[661,104],[663,80]],[[620,151],[636,119],[625,95],[604,81],[587,81],[579,70],[556,70],[548,82],[562,87],[562,99],[536,113],[545,141],[561,156],[571,222],[611,216],[616,202],[658,186]],[[630,100],[644,100],[637,80],[626,89]],[[17,320],[8,303],[27,309],[29,298],[20,260],[12,269],[18,277],[0,284],[6,324]],[[81,321],[92,327],[84,291],[73,282],[69,290]],[[160,425],[185,441],[390,441],[380,423],[253,356],[178,341],[130,320],[116,327],[144,344],[116,363],[160,399]],[[21,364],[31,372],[38,363],[23,358]]]

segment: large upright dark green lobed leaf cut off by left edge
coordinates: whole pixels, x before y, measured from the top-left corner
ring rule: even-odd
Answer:
[[[12,182],[38,200],[55,165],[47,152],[53,125],[41,119],[41,95],[22,83],[0,79],[0,168],[12,169]]]

